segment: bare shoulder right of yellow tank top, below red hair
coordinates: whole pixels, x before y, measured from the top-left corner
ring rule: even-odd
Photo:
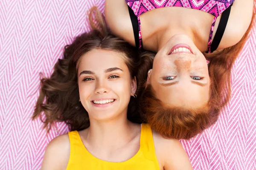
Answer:
[[[177,139],[165,139],[153,131],[155,152],[158,163],[164,170],[192,170],[183,146]]]

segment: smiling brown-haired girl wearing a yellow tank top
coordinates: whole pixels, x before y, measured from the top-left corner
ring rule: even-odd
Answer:
[[[33,117],[44,111],[45,127],[64,121],[72,130],[48,144],[41,170],[191,170],[177,139],[141,124],[135,76],[150,64],[105,31],[76,37],[41,80]]]

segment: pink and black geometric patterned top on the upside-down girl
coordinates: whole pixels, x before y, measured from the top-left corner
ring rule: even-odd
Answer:
[[[214,16],[210,30],[208,52],[211,51],[212,33],[216,18],[222,14],[235,0],[125,0],[128,6],[134,11],[139,24],[139,48],[142,48],[140,15],[152,9],[162,7],[185,7],[208,12]],[[225,28],[224,28],[225,29]],[[217,34],[217,33],[216,33]],[[222,37],[222,36],[221,36]]]

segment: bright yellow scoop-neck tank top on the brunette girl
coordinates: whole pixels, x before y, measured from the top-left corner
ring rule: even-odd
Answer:
[[[70,159],[67,170],[160,170],[154,149],[151,127],[142,124],[140,149],[127,161],[109,162],[94,157],[85,147],[77,131],[68,133]]]

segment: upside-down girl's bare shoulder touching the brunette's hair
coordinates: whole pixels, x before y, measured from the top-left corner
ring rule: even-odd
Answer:
[[[113,34],[135,46],[131,18],[125,0],[106,0],[105,19]]]

